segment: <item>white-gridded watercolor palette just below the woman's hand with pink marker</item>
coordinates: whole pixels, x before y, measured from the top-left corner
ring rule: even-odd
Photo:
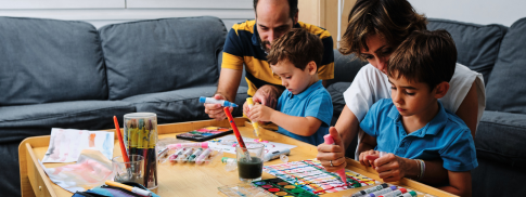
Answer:
[[[346,169],[347,186],[337,173],[328,172],[319,160],[302,160],[281,165],[265,166],[264,171],[286,182],[299,185],[312,194],[335,193],[347,188],[357,188],[380,182]]]

